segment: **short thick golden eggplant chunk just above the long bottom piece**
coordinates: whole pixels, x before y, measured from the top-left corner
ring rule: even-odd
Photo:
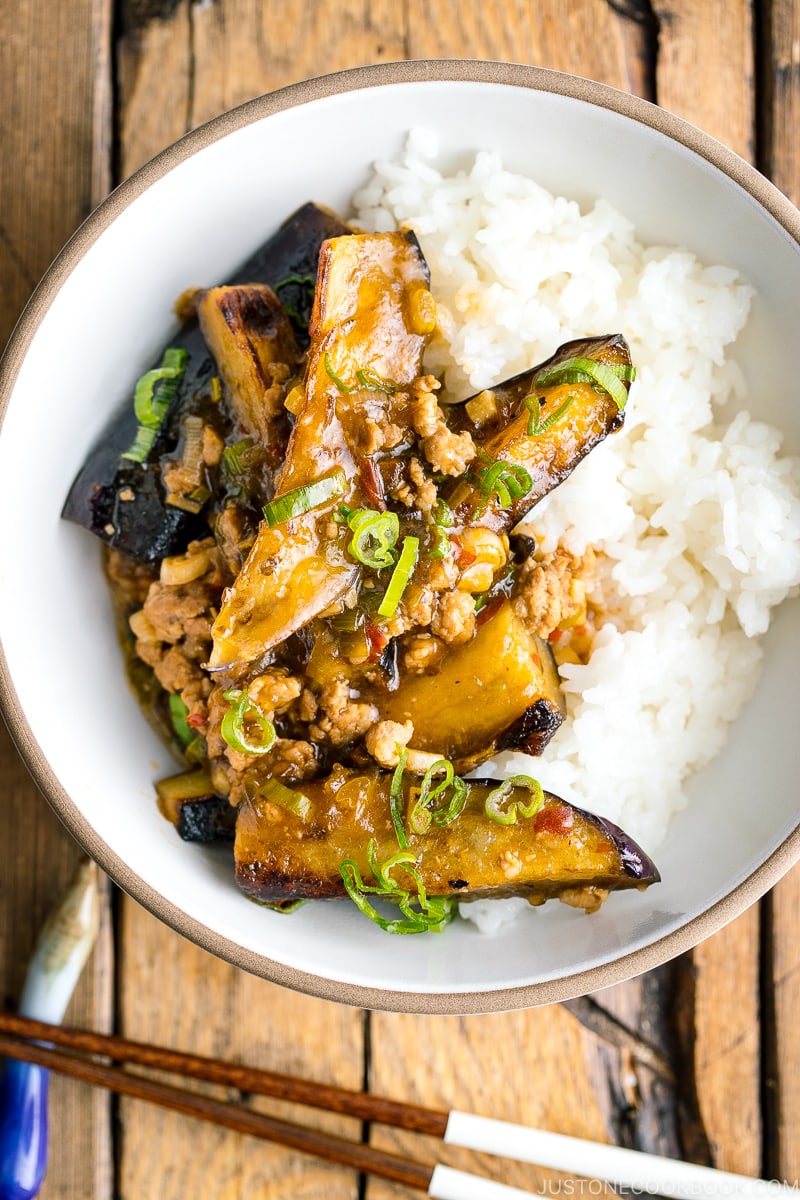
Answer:
[[[414,749],[450,758],[457,772],[499,750],[540,755],[566,716],[552,650],[509,600],[437,674],[402,676],[395,692],[369,698],[381,720],[411,720]]]

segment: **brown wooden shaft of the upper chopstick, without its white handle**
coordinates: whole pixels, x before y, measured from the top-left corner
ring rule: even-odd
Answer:
[[[83,1054],[102,1055],[114,1062],[134,1063],[139,1067],[151,1067],[154,1070],[168,1070],[176,1075],[201,1079],[209,1084],[223,1084],[236,1087],[241,1092],[258,1096],[272,1096],[295,1104],[306,1104],[315,1109],[326,1109],[344,1116],[357,1117],[361,1121],[374,1121],[380,1124],[396,1126],[399,1129],[411,1129],[414,1133],[444,1138],[447,1128],[447,1112],[425,1109],[417,1104],[404,1104],[381,1096],[355,1092],[332,1084],[315,1084],[293,1075],[281,1075],[277,1072],[260,1070],[255,1067],[243,1067],[239,1063],[222,1062],[201,1055],[184,1054],[163,1046],[149,1045],[144,1042],[132,1042],[127,1038],[95,1033],[88,1030],[73,1030],[61,1025],[48,1025],[28,1016],[13,1013],[0,1013],[0,1033],[12,1033],[22,1038],[36,1038],[50,1042],[53,1045],[79,1050]]]

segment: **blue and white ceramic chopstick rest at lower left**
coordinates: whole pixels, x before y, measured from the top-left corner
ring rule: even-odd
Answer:
[[[60,1024],[97,940],[100,877],[84,862],[46,920],[19,1002],[23,1016]],[[7,1058],[0,1072],[0,1200],[34,1200],[47,1172],[49,1072]]]

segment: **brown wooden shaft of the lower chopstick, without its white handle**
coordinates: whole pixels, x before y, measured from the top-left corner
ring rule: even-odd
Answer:
[[[24,1021],[25,1025],[35,1025],[38,1028],[54,1030],[41,1021],[25,1021],[16,1018],[16,1021]],[[4,1015],[2,1025],[8,1022]],[[65,1031],[61,1031],[65,1032]],[[41,1037],[42,1033],[35,1034]],[[44,1034],[50,1040],[55,1040],[52,1033]],[[73,1031],[73,1036],[78,1036]],[[84,1037],[84,1034],[80,1034]],[[95,1034],[85,1034],[92,1038]],[[114,1038],[107,1039],[114,1042]],[[154,1049],[154,1048],[149,1048]],[[100,1051],[108,1052],[108,1051]],[[185,1092],[169,1084],[161,1084],[142,1075],[122,1070],[119,1067],[107,1067],[102,1063],[92,1062],[83,1057],[79,1052],[67,1049],[52,1049],[25,1040],[12,1033],[0,1033],[0,1056],[19,1058],[25,1062],[36,1063],[48,1070],[59,1072],[72,1079],[94,1084],[96,1087],[106,1087],[109,1091],[122,1096],[131,1096],[136,1099],[149,1100],[166,1109],[184,1112],[187,1116],[207,1121],[235,1133],[248,1134],[252,1138],[261,1138],[273,1141],[290,1150],[296,1150],[315,1158],[326,1159],[339,1166],[349,1166],[356,1171],[380,1176],[395,1183],[402,1183],[420,1192],[427,1192],[433,1177],[433,1168],[425,1166],[385,1151],[375,1150],[366,1142],[348,1141],[345,1138],[336,1138],[332,1134],[321,1133],[317,1129],[307,1129],[303,1126],[293,1124],[289,1121],[281,1121],[277,1117],[267,1116],[263,1112],[253,1112],[252,1109],[237,1104],[228,1104],[223,1100],[215,1100],[207,1096],[198,1096]],[[156,1063],[152,1063],[156,1066]],[[163,1066],[163,1060],[161,1062]]]

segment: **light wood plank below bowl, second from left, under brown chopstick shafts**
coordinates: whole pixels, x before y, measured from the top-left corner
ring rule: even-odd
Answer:
[[[120,1028],[126,1037],[361,1087],[363,1015],[359,1010],[294,995],[228,966],[131,900],[122,908],[119,953]],[[215,1094],[237,1098],[224,1088]],[[339,1136],[360,1136],[360,1122],[351,1118],[264,1098],[253,1106]],[[357,1178],[350,1171],[137,1100],[121,1102],[119,1130],[118,1194],[122,1200],[243,1200],[253,1195],[259,1200],[289,1195],[355,1200],[357,1195]]]

